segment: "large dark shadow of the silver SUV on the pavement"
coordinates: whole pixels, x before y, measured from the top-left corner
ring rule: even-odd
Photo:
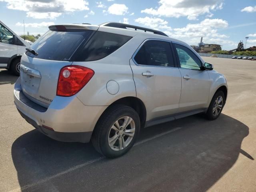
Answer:
[[[248,134],[249,128],[230,116],[208,121],[195,115],[144,128],[141,144],[106,159],[90,143],[57,142],[32,130],[13,143],[12,160],[22,191],[200,192],[218,181],[240,153],[254,160],[241,149]]]

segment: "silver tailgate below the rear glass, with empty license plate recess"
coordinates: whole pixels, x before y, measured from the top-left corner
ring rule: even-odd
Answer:
[[[71,64],[68,61],[43,60],[24,54],[20,66],[22,92],[30,100],[47,108],[56,96],[60,69]]]

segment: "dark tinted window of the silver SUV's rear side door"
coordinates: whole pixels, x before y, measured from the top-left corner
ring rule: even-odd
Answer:
[[[146,41],[134,60],[139,65],[174,67],[170,44],[166,41]]]

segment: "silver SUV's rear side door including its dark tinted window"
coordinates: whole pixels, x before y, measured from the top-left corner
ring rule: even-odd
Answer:
[[[148,39],[130,59],[136,96],[147,110],[146,120],[178,111],[181,75],[170,42]]]

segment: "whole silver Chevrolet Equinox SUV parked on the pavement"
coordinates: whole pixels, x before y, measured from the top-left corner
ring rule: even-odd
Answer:
[[[226,78],[188,44],[121,23],[65,24],[23,54],[14,102],[50,138],[89,142],[106,157],[132,148],[140,128],[205,113],[218,118]]]

